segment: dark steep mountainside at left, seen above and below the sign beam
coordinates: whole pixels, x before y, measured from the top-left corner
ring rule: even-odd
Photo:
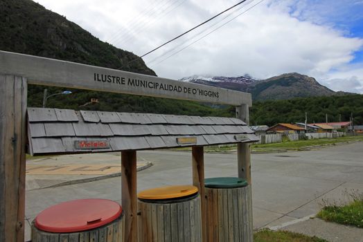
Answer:
[[[0,1],[0,50],[78,62],[123,71],[156,75],[143,59],[91,35],[77,24],[30,0]],[[48,94],[64,91],[57,87],[28,86],[28,106],[42,106]],[[172,113],[184,115],[229,115],[197,102],[142,97],[119,93],[72,90],[56,95],[47,106],[62,109]],[[90,102],[91,98],[98,102]]]

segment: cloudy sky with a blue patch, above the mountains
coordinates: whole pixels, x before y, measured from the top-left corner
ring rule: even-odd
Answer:
[[[141,56],[240,0],[36,1]],[[362,12],[363,0],[247,0],[143,59],[172,79],[298,72],[363,93]]]

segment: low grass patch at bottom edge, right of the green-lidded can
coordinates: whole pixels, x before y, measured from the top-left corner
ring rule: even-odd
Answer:
[[[327,242],[317,236],[306,236],[289,231],[260,230],[254,233],[254,242]]]

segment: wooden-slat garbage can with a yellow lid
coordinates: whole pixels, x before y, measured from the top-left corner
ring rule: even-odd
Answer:
[[[139,241],[202,241],[200,195],[192,185],[138,194]]]

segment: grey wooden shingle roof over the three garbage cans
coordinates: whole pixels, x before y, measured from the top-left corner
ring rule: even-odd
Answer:
[[[28,108],[32,155],[255,142],[237,118]]]

